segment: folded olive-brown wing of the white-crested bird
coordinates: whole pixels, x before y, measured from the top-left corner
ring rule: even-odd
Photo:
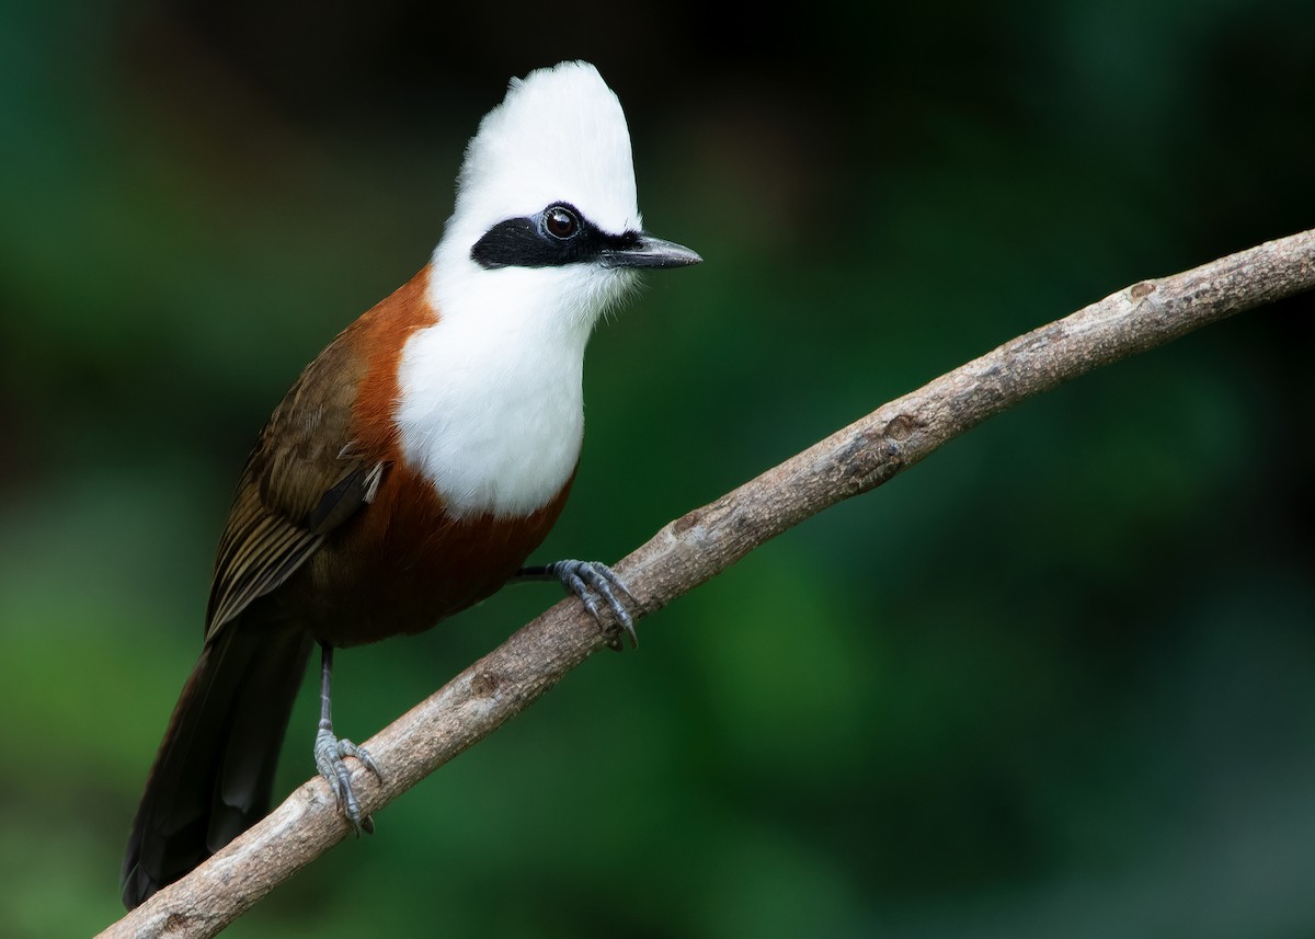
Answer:
[[[379,487],[385,464],[352,441],[364,373],[354,333],[306,366],[260,431],[220,538],[206,640],[283,584]]]

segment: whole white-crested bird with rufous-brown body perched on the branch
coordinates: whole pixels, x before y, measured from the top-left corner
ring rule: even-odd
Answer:
[[[643,271],[700,260],[644,230],[626,117],[594,66],[510,80],[429,263],[305,367],[247,458],[124,856],[128,909],[267,813],[317,646],[314,761],[359,832],[346,759],[379,769],[334,733],[335,648],[421,633],[514,580],[559,580],[633,639],[606,564],[525,562],[576,475],[594,325]]]

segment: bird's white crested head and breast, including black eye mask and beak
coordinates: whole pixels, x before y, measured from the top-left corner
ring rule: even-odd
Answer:
[[[639,271],[698,259],[643,231],[626,117],[593,66],[513,80],[466,150],[429,277],[438,320],[397,368],[402,458],[444,510],[556,498],[580,455],[594,322]]]

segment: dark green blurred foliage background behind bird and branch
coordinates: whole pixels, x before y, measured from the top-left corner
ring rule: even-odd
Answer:
[[[1315,225],[1301,0],[8,3],[0,932],[121,913],[246,450],[419,268],[510,75],[596,62],[651,277],[542,558]],[[1315,936],[1312,300],[1106,368],[642,626],[234,936]],[[368,736],[539,609],[341,656]],[[304,689],[283,790],[312,768]]]

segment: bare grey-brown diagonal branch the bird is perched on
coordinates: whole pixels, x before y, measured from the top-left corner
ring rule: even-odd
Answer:
[[[947,441],[1026,398],[1201,326],[1315,287],[1315,229],[1160,280],[1144,280],[892,401],[715,502],[663,527],[615,566],[642,613],[711,579],[759,544],[881,485]],[[384,781],[356,771],[375,813],[515,717],[609,637],[564,600],[367,740]],[[347,836],[313,779],[263,822],[101,936],[212,936]]]

